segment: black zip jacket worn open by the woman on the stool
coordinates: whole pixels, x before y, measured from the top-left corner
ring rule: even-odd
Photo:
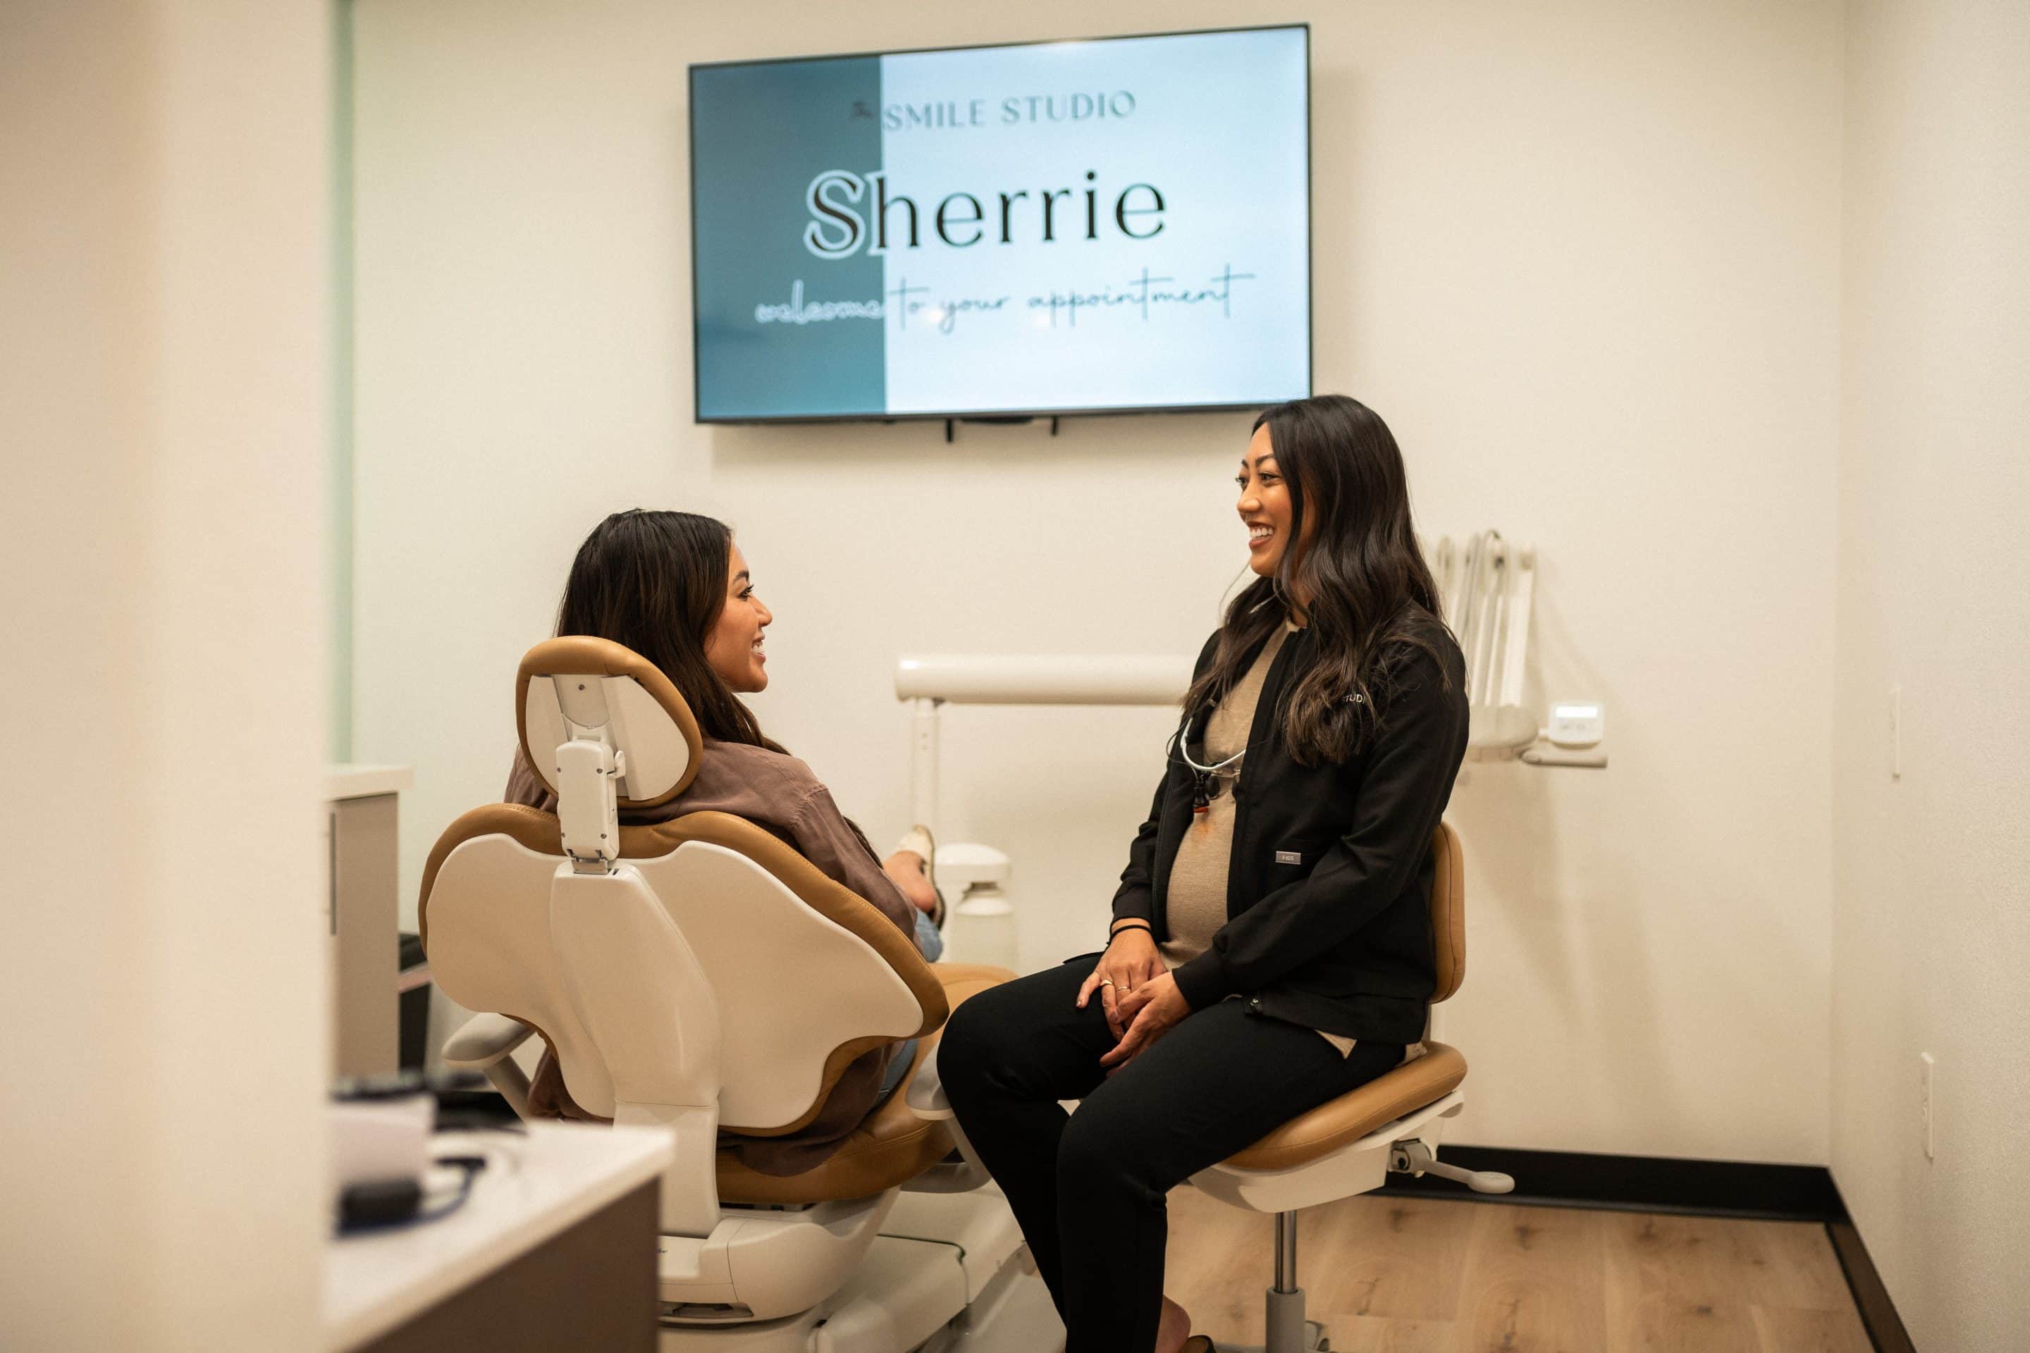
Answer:
[[[1423,1037],[1437,988],[1431,832],[1466,757],[1466,659],[1429,615],[1419,635],[1441,661],[1411,651],[1378,706],[1380,728],[1344,765],[1297,765],[1277,728],[1281,694],[1313,661],[1311,631],[1275,655],[1232,789],[1226,925],[1173,974],[1194,1010],[1242,996],[1250,1010],[1348,1039]],[[1216,645],[1218,635],[1198,673]],[[1149,921],[1157,943],[1169,935],[1163,901],[1192,791],[1194,773],[1173,751],[1114,893],[1114,919]]]

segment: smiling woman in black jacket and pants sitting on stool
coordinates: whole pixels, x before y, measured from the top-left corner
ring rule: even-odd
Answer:
[[[1403,456],[1319,396],[1255,422],[1238,483],[1259,578],[1198,657],[1106,949],[974,996],[938,1059],[1068,1353],[1186,1349],[1165,1193],[1415,1057],[1435,990],[1466,665]]]

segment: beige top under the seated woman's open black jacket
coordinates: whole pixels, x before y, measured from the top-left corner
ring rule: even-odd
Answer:
[[[1248,732],[1255,728],[1255,706],[1261,702],[1269,667],[1283,649],[1283,641],[1295,631],[1297,627],[1285,621],[1283,629],[1263,645],[1246,673],[1220,698],[1212,718],[1206,720],[1206,746],[1198,755],[1200,765],[1220,765],[1248,744]],[[1206,805],[1204,813],[1194,815],[1192,826],[1183,830],[1183,840],[1177,842],[1177,858],[1169,866],[1169,888],[1163,895],[1169,939],[1157,945],[1167,968],[1179,968],[1204,953],[1212,947],[1212,935],[1226,925],[1226,866],[1234,856],[1234,783],[1238,783],[1244,765],[1242,757],[1214,773],[1220,793]],[[1324,1030],[1317,1037],[1340,1049],[1340,1055],[1354,1051],[1352,1039]]]

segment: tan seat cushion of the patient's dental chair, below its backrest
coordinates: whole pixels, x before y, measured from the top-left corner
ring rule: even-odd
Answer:
[[[932,964],[944,986],[944,1000],[956,1010],[966,998],[1001,986],[1015,978],[1007,968],[987,964]],[[865,1199],[885,1189],[909,1183],[952,1152],[950,1130],[936,1120],[918,1118],[909,1110],[909,1077],[916,1075],[930,1049],[938,1045],[944,1028],[924,1035],[916,1043],[916,1061],[895,1093],[873,1114],[861,1120],[838,1150],[824,1164],[802,1174],[761,1174],[739,1162],[731,1150],[721,1150],[719,1201],[721,1203],[832,1203],[838,1199]]]

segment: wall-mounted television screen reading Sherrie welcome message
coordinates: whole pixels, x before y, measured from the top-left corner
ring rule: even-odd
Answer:
[[[1309,28],[690,67],[700,422],[1311,391]]]

